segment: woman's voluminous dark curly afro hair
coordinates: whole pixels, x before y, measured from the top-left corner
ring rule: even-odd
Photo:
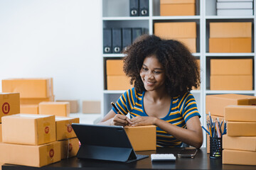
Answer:
[[[142,35],[124,51],[124,72],[137,91],[146,91],[140,70],[146,57],[155,55],[164,67],[166,89],[171,97],[185,94],[200,85],[196,57],[177,40],[163,40],[156,35]]]

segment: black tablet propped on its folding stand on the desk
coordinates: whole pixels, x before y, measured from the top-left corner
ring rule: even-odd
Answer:
[[[136,154],[122,126],[73,123],[80,140],[79,159],[99,159],[115,162],[134,162],[149,157]]]

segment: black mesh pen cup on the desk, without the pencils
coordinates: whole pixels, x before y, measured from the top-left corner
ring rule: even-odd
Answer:
[[[210,137],[210,158],[221,159],[222,150],[222,138]]]

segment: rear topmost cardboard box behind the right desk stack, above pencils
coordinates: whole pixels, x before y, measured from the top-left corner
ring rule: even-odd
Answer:
[[[255,96],[240,94],[216,94],[206,96],[206,113],[224,117],[224,108],[229,105],[256,105]]]

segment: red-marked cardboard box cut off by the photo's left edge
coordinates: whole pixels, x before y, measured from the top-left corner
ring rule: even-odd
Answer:
[[[20,113],[20,97],[18,93],[0,94],[0,123],[5,115]]]

